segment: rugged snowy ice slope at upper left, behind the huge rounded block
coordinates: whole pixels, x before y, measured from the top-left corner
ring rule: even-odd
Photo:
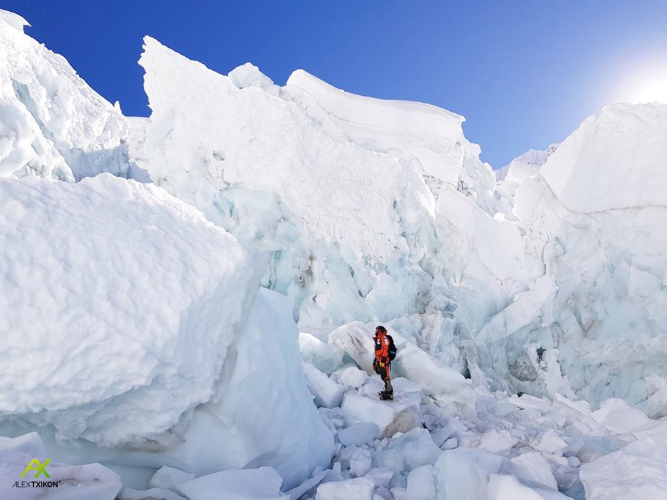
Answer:
[[[129,168],[126,119],[63,56],[0,17],[0,175],[64,180]]]

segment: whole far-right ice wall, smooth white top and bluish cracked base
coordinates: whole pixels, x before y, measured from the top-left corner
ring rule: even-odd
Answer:
[[[620,397],[666,414],[666,148],[667,105],[609,106],[520,185],[514,213],[544,276],[478,339],[497,383],[566,392],[562,372],[594,405]]]

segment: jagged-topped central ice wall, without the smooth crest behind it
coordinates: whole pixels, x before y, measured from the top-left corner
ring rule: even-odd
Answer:
[[[264,284],[295,298],[302,327],[385,317],[388,301],[419,310],[435,200],[413,167],[151,38],[140,64],[152,114],[138,163],[264,251]]]

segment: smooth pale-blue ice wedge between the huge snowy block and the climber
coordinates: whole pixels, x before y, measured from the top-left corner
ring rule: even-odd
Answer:
[[[185,443],[154,457],[196,474],[267,465],[283,488],[329,467],[334,437],[324,425],[301,370],[289,299],[261,289],[223,367],[211,401],[195,410]]]

